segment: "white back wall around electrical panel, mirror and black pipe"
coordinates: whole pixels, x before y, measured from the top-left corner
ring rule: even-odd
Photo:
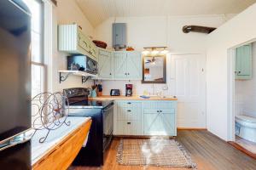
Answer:
[[[108,48],[111,48],[113,22],[125,22],[127,24],[127,45],[139,51],[143,50],[143,47],[167,46],[171,54],[205,54],[207,34],[195,32],[185,34],[182,31],[183,26],[218,27],[233,16],[235,14],[109,18],[96,27],[95,37],[98,40],[108,42]],[[170,62],[167,61],[166,65],[170,65]],[[166,74],[168,82],[168,79],[171,78],[168,77],[170,70],[167,69]],[[103,94],[109,94],[109,89],[111,88],[119,88],[124,91],[125,83],[129,82],[104,81]],[[152,92],[151,84],[141,84],[140,81],[133,81],[131,83],[137,89],[135,94],[143,94],[145,89]],[[163,85],[156,84],[154,87],[156,91],[161,91]]]

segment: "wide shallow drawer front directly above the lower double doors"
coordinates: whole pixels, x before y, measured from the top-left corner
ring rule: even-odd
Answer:
[[[175,108],[175,103],[173,101],[144,102],[143,107],[148,109],[172,109]]]

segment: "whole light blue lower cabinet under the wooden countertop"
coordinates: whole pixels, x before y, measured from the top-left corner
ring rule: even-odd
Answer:
[[[177,136],[177,101],[117,100],[115,135]]]

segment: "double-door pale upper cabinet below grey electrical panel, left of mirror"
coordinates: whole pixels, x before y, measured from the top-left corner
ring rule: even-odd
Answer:
[[[113,79],[142,80],[142,58],[136,51],[113,52]]]

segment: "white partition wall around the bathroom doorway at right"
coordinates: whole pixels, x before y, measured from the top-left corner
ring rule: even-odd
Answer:
[[[230,139],[231,61],[228,49],[256,37],[256,4],[207,36],[207,129]]]

